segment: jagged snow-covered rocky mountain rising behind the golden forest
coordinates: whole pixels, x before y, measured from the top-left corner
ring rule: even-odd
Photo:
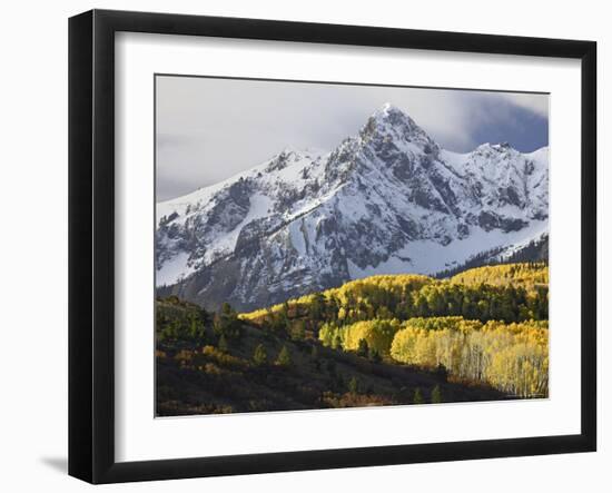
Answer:
[[[248,310],[374,274],[516,254],[547,234],[547,155],[507,144],[451,152],[387,103],[330,152],[285,149],[158,204],[158,293]]]

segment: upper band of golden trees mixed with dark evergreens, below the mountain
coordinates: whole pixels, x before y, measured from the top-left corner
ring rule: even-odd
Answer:
[[[315,335],[325,323],[462,316],[505,323],[549,317],[547,266],[513,264],[467,270],[451,279],[418,275],[373,276],[288,300],[240,317],[260,326]]]

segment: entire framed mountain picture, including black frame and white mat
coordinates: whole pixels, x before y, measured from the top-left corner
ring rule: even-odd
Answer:
[[[596,447],[596,46],[69,22],[69,473]]]

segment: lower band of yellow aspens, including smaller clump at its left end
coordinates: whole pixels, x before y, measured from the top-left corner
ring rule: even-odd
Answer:
[[[549,325],[545,321],[504,324],[463,317],[325,324],[325,346],[448,375],[455,382],[487,384],[520,397],[547,396]]]

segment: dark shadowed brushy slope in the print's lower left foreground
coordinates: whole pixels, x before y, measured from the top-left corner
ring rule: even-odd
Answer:
[[[178,300],[158,300],[157,309],[167,322],[186,323],[200,313],[197,306]],[[432,393],[435,400],[435,392],[444,402],[505,398],[486,385],[451,383],[444,373],[371,361],[314,339],[292,338],[285,332],[261,331],[246,323],[241,331],[239,341],[229,341],[225,349],[219,349],[211,326],[206,326],[200,338],[158,338],[156,414],[414,404],[415,392],[423,403],[432,402]],[[265,363],[255,363],[257,347],[264,348]],[[284,365],[277,361],[283,348],[289,355]]]

